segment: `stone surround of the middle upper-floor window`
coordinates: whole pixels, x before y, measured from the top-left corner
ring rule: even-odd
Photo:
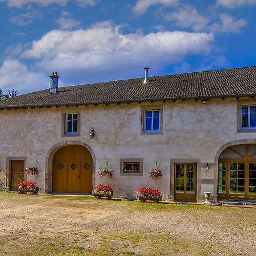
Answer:
[[[147,132],[144,131],[144,121],[146,110],[159,110],[160,127],[159,131]],[[141,106],[141,135],[163,134],[163,105],[148,105]]]

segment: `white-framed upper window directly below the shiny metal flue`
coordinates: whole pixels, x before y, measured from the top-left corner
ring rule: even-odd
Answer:
[[[158,132],[160,131],[160,110],[145,110],[144,114],[144,131]]]

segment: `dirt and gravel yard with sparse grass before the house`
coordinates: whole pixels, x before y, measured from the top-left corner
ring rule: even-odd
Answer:
[[[256,208],[0,192],[0,255],[256,255]]]

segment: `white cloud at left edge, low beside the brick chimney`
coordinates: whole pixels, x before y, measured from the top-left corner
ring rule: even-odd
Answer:
[[[31,72],[18,60],[7,59],[0,66],[0,88],[3,92],[15,89],[18,94],[46,89],[48,77],[42,72]]]

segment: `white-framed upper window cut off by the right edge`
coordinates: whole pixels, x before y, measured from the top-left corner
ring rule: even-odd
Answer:
[[[242,106],[242,129],[256,129],[256,105]]]

